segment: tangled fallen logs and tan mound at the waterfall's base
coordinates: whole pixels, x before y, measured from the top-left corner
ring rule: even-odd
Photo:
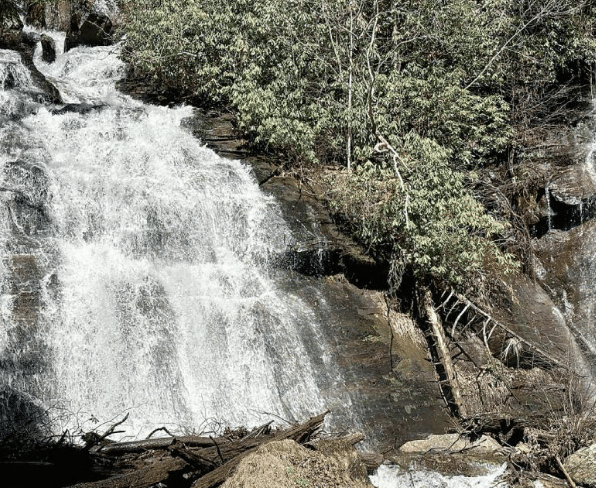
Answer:
[[[327,413],[327,412],[326,412]],[[221,437],[171,436],[133,442],[111,442],[105,434],[90,434],[85,450],[103,479],[76,488],[211,488],[215,486],[372,486],[367,466],[354,449],[364,436],[320,439],[326,413],[283,430],[269,422],[252,431],[226,431]],[[266,461],[267,470],[263,471]],[[320,469],[318,469],[318,468]],[[256,471],[255,471],[256,470]],[[252,483],[252,484],[251,484]],[[259,484],[261,486],[261,484]]]

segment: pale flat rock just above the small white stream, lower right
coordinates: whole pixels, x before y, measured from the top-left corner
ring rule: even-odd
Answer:
[[[483,435],[471,441],[460,434],[430,435],[426,439],[406,442],[399,448],[402,453],[460,453],[467,451],[476,455],[500,454],[501,445],[491,437]]]

